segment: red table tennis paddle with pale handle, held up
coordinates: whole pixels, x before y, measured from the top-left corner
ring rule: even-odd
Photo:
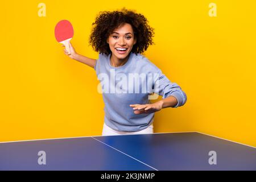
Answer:
[[[69,42],[74,36],[72,24],[68,20],[61,20],[55,27],[55,38],[57,42],[64,44],[68,54],[71,54]]]

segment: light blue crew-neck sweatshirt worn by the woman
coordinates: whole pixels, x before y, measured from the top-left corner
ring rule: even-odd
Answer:
[[[177,98],[175,107],[187,101],[180,86],[170,82],[145,56],[130,52],[129,59],[121,67],[112,67],[110,56],[100,53],[94,69],[101,83],[98,92],[102,93],[105,104],[104,122],[112,129],[134,132],[151,125],[154,113],[134,114],[131,104],[151,104],[150,97],[158,95],[163,99],[169,96]]]

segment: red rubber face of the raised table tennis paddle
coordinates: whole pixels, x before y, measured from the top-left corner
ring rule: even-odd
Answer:
[[[55,27],[55,38],[57,42],[71,39],[74,36],[72,24],[68,20],[61,20]]]

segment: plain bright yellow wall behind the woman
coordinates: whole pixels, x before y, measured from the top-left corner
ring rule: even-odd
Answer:
[[[46,4],[46,17],[38,4]],[[209,3],[217,17],[208,15]],[[155,28],[144,53],[187,93],[156,113],[155,132],[199,131],[256,146],[255,7],[245,1],[1,2],[0,141],[101,135],[104,102],[92,68],[70,59],[54,37],[61,19],[76,51],[97,59],[88,40],[96,15],[126,7]]]

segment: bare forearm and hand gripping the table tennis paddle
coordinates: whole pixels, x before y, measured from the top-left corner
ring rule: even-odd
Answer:
[[[96,65],[96,60],[95,59],[90,59],[89,57],[79,55],[78,53],[76,53],[76,51],[73,48],[71,43],[69,43],[69,46],[70,46],[71,55],[68,55],[67,50],[64,49],[65,55],[68,55],[71,59],[79,61],[80,63],[84,63],[84,64],[88,65],[91,68],[95,67],[95,65]]]

